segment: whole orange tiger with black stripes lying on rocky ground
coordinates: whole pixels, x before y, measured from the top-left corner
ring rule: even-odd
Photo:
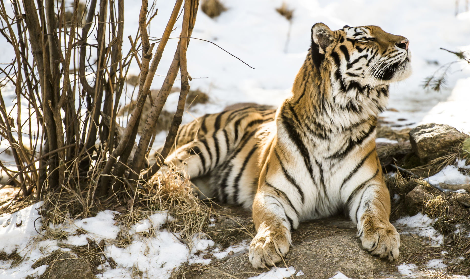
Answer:
[[[376,152],[378,114],[389,84],[411,74],[409,40],[380,27],[323,23],[289,96],[277,109],[246,106],[179,128],[164,166],[190,177],[198,194],[252,211],[249,260],[282,260],[299,222],[345,212],[362,247],[399,256],[390,196]]]

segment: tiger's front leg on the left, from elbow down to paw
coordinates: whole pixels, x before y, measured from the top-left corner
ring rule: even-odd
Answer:
[[[257,230],[250,244],[250,262],[255,268],[274,265],[289,252],[293,222],[297,214],[289,199],[280,190],[265,181],[258,188],[253,203],[253,221]],[[294,219],[294,220],[292,220]]]

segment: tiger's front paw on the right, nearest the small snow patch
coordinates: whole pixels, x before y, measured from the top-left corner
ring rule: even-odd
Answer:
[[[390,222],[365,220],[359,232],[362,247],[372,255],[378,255],[390,261],[399,256],[400,235]]]

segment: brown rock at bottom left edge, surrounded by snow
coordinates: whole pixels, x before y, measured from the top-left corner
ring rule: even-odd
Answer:
[[[41,265],[49,265],[44,273],[39,277],[40,279],[94,279],[95,276],[92,267],[86,261],[78,258],[77,256],[56,250],[52,254],[40,258],[32,265],[35,269]]]

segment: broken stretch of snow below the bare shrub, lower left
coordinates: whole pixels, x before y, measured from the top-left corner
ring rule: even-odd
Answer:
[[[199,255],[206,254],[208,249],[212,249],[215,245],[214,241],[207,239],[203,234],[195,235],[190,247],[183,244],[179,234],[161,229],[164,223],[173,221],[167,212],[157,212],[132,225],[128,231],[132,242],[126,247],[117,247],[115,244],[118,233],[125,230],[114,220],[118,212],[104,210],[95,217],[51,225],[49,229],[61,231],[67,235],[67,239],[41,240],[34,229],[35,220],[37,230],[41,224],[40,215],[37,212],[39,207],[40,203],[36,203],[11,215],[0,217],[0,253],[11,254],[16,251],[24,257],[23,262],[14,267],[11,266],[12,261],[0,261],[0,278],[23,279],[29,275],[38,276],[47,268],[46,265],[34,270],[31,268],[40,257],[61,249],[59,245],[86,245],[87,239],[95,240],[97,243],[104,239],[106,244],[104,255],[107,258],[113,258],[117,263],[115,269],[111,269],[108,263],[99,267],[103,272],[97,276],[103,279],[129,278],[129,269],[132,267],[143,271],[145,277],[165,279],[169,278],[171,272],[182,263],[208,264],[211,262],[210,259],[203,259]],[[154,229],[154,234],[150,237],[142,234],[142,232],[149,232],[151,228]],[[217,258],[223,258],[231,251],[233,251],[231,255],[248,251],[248,245],[248,241],[243,241],[224,250],[216,247],[211,252]],[[62,250],[69,251],[67,248],[62,248]],[[283,271],[281,273],[285,274]]]

